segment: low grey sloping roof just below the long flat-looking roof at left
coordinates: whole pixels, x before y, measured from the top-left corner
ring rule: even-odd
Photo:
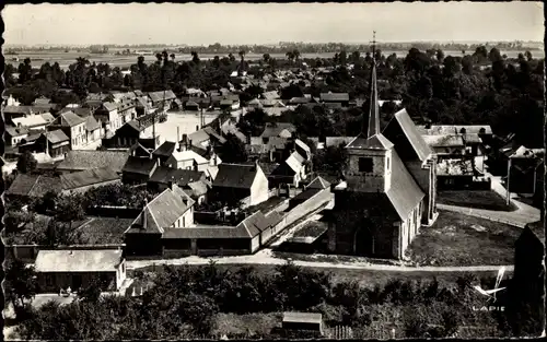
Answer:
[[[62,193],[82,193],[92,188],[121,182],[117,172],[105,167],[60,175]]]

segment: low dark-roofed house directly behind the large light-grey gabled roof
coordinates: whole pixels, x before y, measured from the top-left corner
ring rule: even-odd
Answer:
[[[148,188],[154,191],[163,191],[171,182],[174,182],[186,192],[188,184],[205,179],[206,175],[202,172],[158,166],[148,180]]]

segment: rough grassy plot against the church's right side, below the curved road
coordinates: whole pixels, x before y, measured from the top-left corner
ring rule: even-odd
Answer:
[[[420,266],[513,264],[514,243],[522,229],[502,223],[440,211],[407,249]]]

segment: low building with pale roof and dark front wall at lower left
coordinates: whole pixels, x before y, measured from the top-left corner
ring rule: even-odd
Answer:
[[[46,293],[68,287],[78,292],[95,280],[102,291],[117,291],[126,280],[121,249],[39,250],[34,268],[39,288]]]

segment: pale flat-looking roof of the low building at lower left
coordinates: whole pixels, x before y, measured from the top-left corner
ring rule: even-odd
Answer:
[[[39,250],[36,272],[115,272],[123,260],[121,249]]]

